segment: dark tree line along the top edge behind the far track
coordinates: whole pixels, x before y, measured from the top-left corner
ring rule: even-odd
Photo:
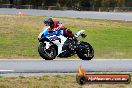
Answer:
[[[131,7],[132,0],[0,0],[0,4],[19,3],[22,5],[35,6],[58,6],[58,7]]]

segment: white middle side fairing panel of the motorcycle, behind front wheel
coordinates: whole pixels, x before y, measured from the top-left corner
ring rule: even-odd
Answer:
[[[62,35],[57,36],[57,37],[61,39],[61,42],[59,40],[55,40],[52,42],[58,46],[58,55],[59,55],[60,53],[63,52],[62,47],[63,47],[63,44],[65,43],[65,41],[67,40],[67,38]]]

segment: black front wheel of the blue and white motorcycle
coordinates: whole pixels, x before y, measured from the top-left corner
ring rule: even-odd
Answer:
[[[45,60],[53,60],[57,56],[57,50],[55,48],[55,45],[50,46],[49,49],[45,49],[45,44],[40,43],[38,47],[38,52],[39,55]],[[51,53],[51,55],[49,55],[48,53]]]

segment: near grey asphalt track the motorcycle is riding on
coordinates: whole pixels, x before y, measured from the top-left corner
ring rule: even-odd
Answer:
[[[87,72],[132,72],[129,59],[83,60],[0,60],[0,74],[6,73],[76,73],[79,66]]]

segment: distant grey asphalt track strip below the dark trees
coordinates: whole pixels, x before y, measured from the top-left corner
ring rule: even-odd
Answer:
[[[25,15],[33,16],[54,16],[54,17],[71,17],[71,18],[88,18],[88,19],[108,19],[132,21],[132,13],[128,12],[94,12],[94,11],[72,11],[72,10],[35,10],[35,9],[0,9],[0,14],[18,15],[23,11]]]

